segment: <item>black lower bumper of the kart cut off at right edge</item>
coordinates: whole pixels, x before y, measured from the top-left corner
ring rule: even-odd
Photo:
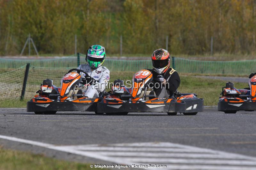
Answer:
[[[218,111],[229,111],[229,110],[245,110],[245,111],[253,111],[256,110],[256,102],[252,100],[247,100],[244,102],[218,102]]]

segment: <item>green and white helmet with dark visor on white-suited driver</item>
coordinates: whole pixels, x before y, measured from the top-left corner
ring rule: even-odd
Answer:
[[[98,68],[105,61],[105,57],[106,57],[105,48],[100,45],[93,45],[89,47],[86,53],[85,60],[87,61],[87,63],[91,68]]]

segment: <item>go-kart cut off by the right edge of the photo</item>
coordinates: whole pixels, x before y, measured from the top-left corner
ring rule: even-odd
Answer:
[[[222,95],[218,102],[218,111],[236,113],[238,110],[256,110],[256,75],[249,80],[249,88],[236,89],[234,83],[227,82],[222,87]]]

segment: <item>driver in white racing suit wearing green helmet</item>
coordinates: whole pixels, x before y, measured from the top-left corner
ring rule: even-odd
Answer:
[[[81,64],[77,69],[84,70],[89,76],[83,72],[82,84],[84,84],[83,93],[87,97],[99,97],[99,92],[103,92],[109,81],[109,70],[103,67],[106,53],[105,48],[100,45],[90,46],[85,60],[87,64]]]

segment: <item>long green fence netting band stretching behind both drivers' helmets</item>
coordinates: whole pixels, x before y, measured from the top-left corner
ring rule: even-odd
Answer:
[[[80,64],[85,63],[84,54],[80,54],[79,59]],[[247,75],[251,72],[256,72],[256,60],[200,61],[176,57],[172,59],[171,66],[173,66],[179,73]],[[76,68],[77,62],[77,56],[75,55],[41,60],[13,60],[2,58],[0,59],[0,68],[14,69],[19,68],[26,63],[30,63],[30,65],[33,65],[34,67]],[[110,71],[136,72],[143,68],[152,68],[151,60],[113,60],[107,58],[103,65]]]

